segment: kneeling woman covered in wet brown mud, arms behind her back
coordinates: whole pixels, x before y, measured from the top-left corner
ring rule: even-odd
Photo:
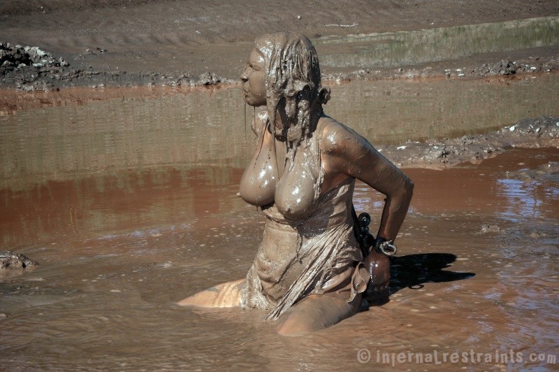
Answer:
[[[412,198],[412,181],[354,131],[324,114],[317,52],[303,35],[256,39],[240,76],[245,102],[259,108],[252,129],[256,152],[240,196],[266,215],[263,241],[247,277],[179,302],[268,311],[280,334],[329,327],[354,315],[371,277],[386,290],[391,245]],[[375,247],[363,253],[354,237],[355,180],[386,195]]]

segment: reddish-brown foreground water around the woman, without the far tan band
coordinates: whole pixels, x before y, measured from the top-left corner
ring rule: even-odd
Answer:
[[[50,183],[50,196],[31,192],[10,201],[43,210],[27,217],[29,229],[57,223],[31,243],[23,243],[24,231],[10,233],[41,265],[0,283],[3,366],[388,369],[391,362],[376,362],[377,351],[442,358],[474,350],[485,358],[514,350],[522,360],[395,365],[550,369],[529,357],[556,355],[549,324],[557,322],[558,306],[557,183],[506,172],[558,160],[555,148],[513,149],[445,171],[406,169],[416,194],[398,238],[389,303],[297,338],[277,336],[258,311],[174,305],[242,278],[252,264],[263,217],[235,196],[242,169],[203,173],[177,165],[140,177],[121,172],[110,182],[97,175]],[[80,198],[68,201],[68,194]],[[96,201],[84,204],[88,199]],[[360,184],[354,201],[378,222],[381,195]],[[59,203],[66,207],[47,211]],[[1,224],[3,231],[8,226]],[[366,364],[357,359],[363,348],[373,356]]]

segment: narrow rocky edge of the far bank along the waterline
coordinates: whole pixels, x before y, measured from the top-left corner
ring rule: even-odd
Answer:
[[[194,87],[199,85],[233,84],[235,78],[217,76],[206,71],[197,76],[191,73],[154,73],[99,71],[88,66],[76,69],[62,57],[53,57],[37,46],[10,45],[0,43],[0,89],[15,89],[26,92],[59,90],[65,87],[131,87],[131,86],[170,86]],[[549,52],[549,50],[547,51]],[[106,53],[96,48],[87,54]],[[491,58],[498,58],[493,56]],[[490,58],[490,59],[491,59]],[[460,66],[460,68],[456,67]],[[239,70],[241,68],[239,67]],[[537,73],[559,73],[559,57],[540,56],[522,57],[511,61],[489,60],[478,64],[476,60],[465,59],[447,64],[428,64],[423,66],[402,66],[397,69],[356,69],[346,68],[335,73],[323,73],[323,80],[379,80],[407,78],[485,78],[488,76],[512,76]],[[326,69],[328,71],[328,69]]]

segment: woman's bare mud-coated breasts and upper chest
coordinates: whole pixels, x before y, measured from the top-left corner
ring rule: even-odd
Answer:
[[[266,117],[256,117],[254,126],[259,141],[240,181],[242,199],[254,206],[275,204],[284,217],[304,220],[314,212],[320,196],[320,126],[296,147],[274,139]]]

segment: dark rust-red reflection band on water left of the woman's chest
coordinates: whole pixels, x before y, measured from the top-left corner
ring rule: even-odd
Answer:
[[[0,249],[231,213],[245,206],[235,196],[241,174],[228,167],[161,167],[0,189]]]

